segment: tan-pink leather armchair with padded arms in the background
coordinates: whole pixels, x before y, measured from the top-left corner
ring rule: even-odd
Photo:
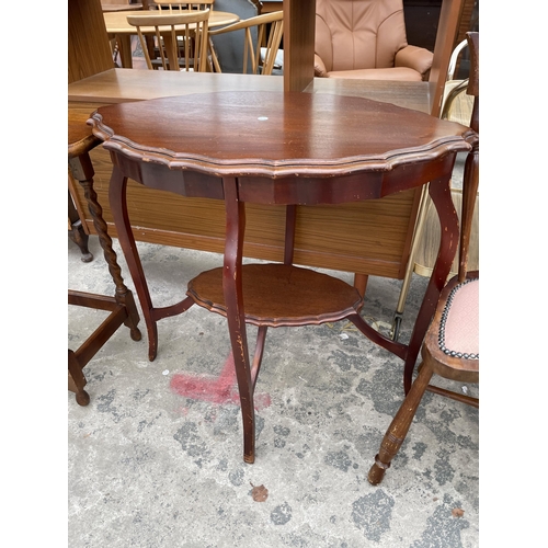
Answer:
[[[432,58],[408,45],[402,0],[316,0],[315,76],[421,81]]]

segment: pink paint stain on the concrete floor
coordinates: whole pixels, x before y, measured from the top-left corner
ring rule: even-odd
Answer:
[[[204,375],[186,375],[176,373],[171,378],[170,388],[173,392],[193,400],[210,401],[212,403],[240,403],[238,384],[236,380],[235,358],[228,355],[222,370],[217,379]],[[255,410],[267,408],[271,397],[267,393],[256,393],[254,397]]]

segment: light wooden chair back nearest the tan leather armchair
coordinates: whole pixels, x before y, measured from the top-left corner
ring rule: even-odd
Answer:
[[[243,73],[272,75],[274,61],[276,60],[284,34],[284,12],[264,13],[263,15],[255,15],[224,26],[222,28],[215,28],[209,31],[209,37],[238,31],[244,32]],[[213,69],[215,72],[221,72],[217,53],[212,42],[210,55]],[[251,64],[251,67],[249,64]]]

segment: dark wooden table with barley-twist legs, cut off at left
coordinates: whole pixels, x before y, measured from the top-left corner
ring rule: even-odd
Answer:
[[[112,239],[106,232],[106,222],[102,216],[103,210],[98,203],[96,193],[93,190],[94,171],[89,151],[96,147],[101,140],[91,134],[84,121],[81,118],[71,118],[69,114],[68,141],[69,169],[72,176],[84,190],[93,226],[98,232],[99,241],[104,251],[104,258],[109,264],[109,271],[116,286],[113,297],[72,289],[68,292],[69,305],[111,312],[78,350],[68,350],[68,389],[76,392],[78,404],[87,406],[90,402],[90,396],[84,390],[87,384],[82,370],[84,366],[123,323],[129,328],[129,333],[134,341],[140,341],[141,333],[137,328],[139,313],[133,294],[124,284],[122,270],[116,261],[116,253],[112,249]]]

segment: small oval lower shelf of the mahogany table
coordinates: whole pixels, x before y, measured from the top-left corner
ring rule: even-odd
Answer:
[[[244,264],[242,287],[246,322],[254,326],[339,321],[363,305],[358,290],[342,279],[287,264]],[[186,294],[197,305],[227,316],[221,267],[191,279]]]

